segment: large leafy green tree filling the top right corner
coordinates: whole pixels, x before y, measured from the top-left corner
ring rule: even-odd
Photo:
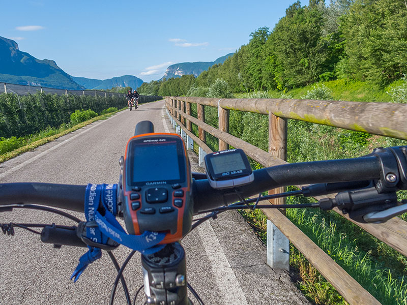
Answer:
[[[385,85],[407,73],[407,7],[403,0],[357,0],[341,25],[350,77]]]

